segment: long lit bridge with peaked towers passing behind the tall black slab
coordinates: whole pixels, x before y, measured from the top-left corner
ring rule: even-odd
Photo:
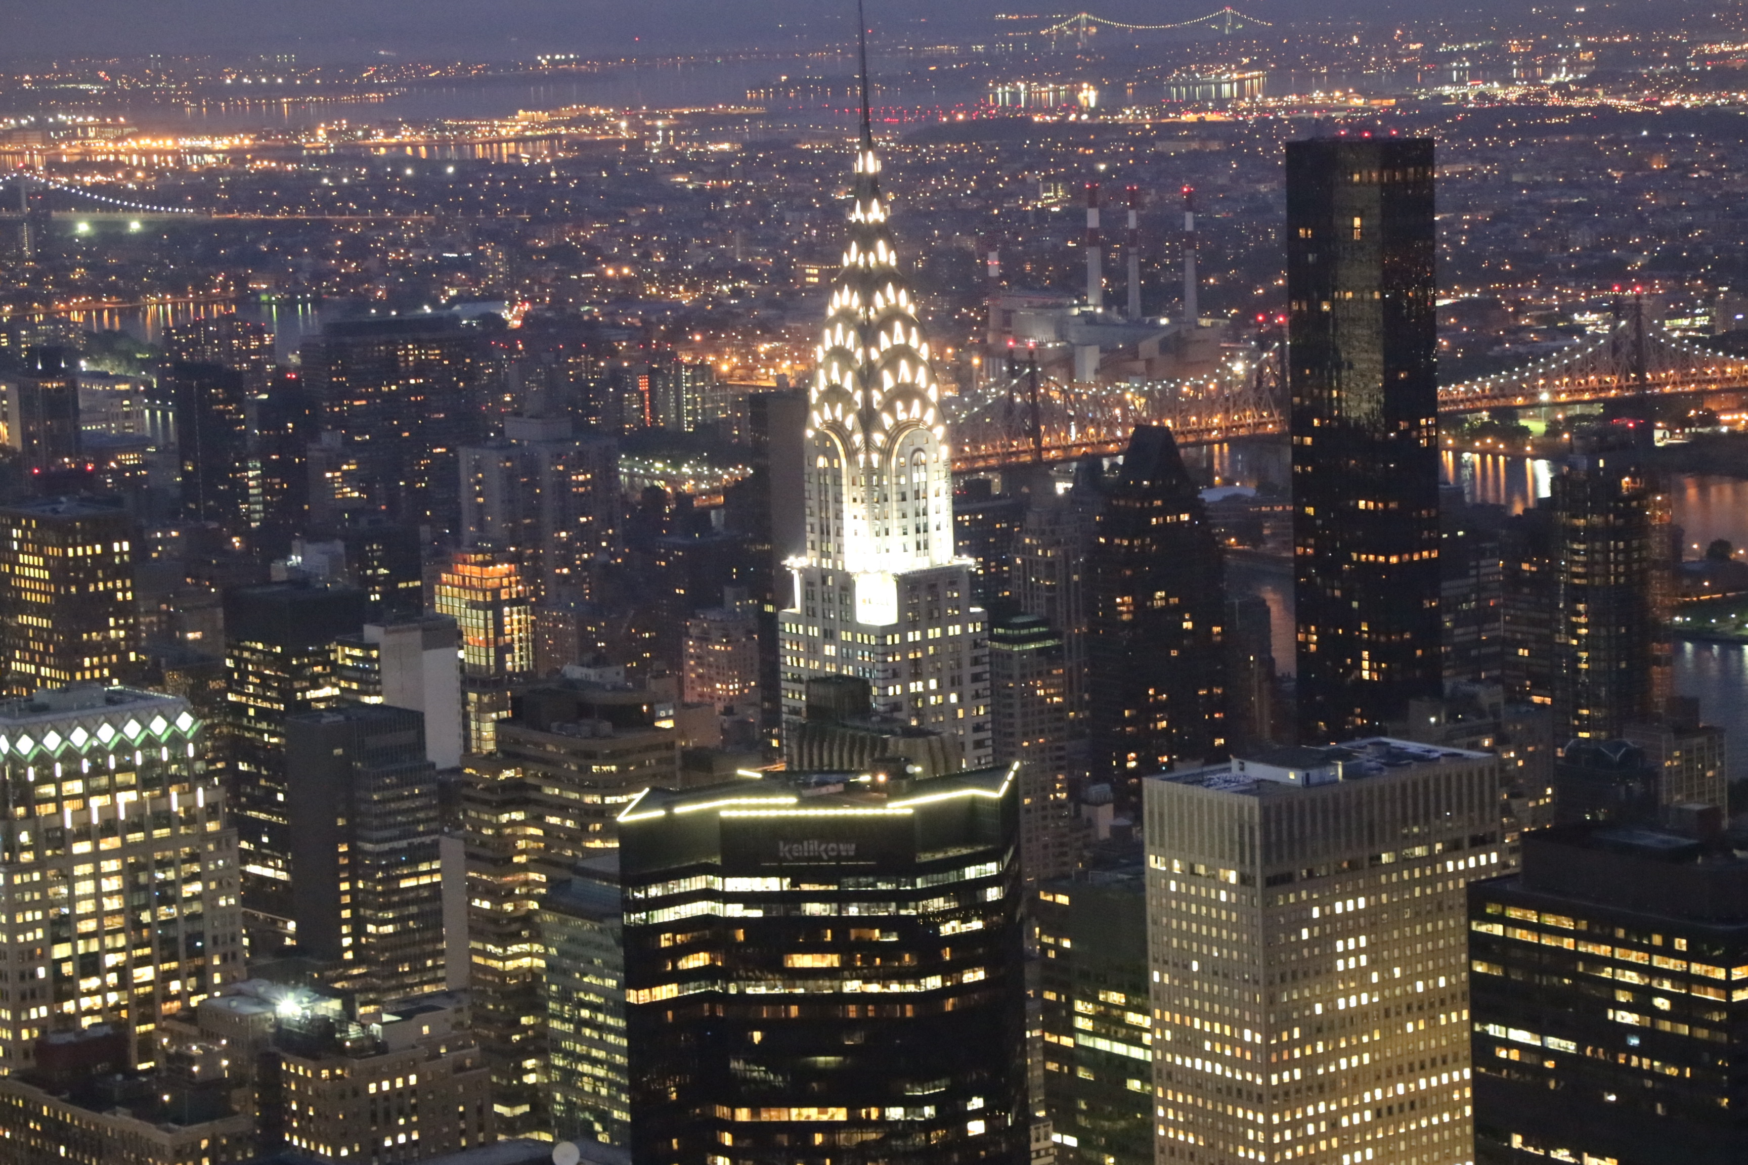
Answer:
[[[1210,376],[1073,384],[1035,365],[949,398],[956,472],[1120,452],[1138,424],[1206,445],[1285,430],[1285,344],[1257,342]],[[1439,414],[1559,409],[1638,396],[1748,395],[1748,358],[1729,356],[1627,313],[1524,367],[1439,388]]]

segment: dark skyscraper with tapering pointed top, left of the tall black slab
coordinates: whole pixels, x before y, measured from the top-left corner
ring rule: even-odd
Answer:
[[[1092,770],[1134,781],[1213,760],[1225,730],[1220,548],[1171,430],[1141,426],[1087,555]]]

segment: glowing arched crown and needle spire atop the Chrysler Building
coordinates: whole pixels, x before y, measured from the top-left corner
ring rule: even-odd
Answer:
[[[879,189],[865,23],[858,45],[864,96],[853,204],[808,402],[815,526],[808,557],[897,573],[953,559],[953,484],[940,386]]]

